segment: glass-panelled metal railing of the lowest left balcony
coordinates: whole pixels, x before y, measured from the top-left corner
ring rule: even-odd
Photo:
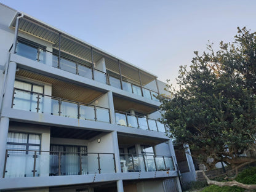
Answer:
[[[46,177],[115,172],[114,153],[6,150],[3,177]]]

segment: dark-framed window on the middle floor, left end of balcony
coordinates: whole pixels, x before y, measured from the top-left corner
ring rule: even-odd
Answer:
[[[44,94],[44,86],[15,80],[14,88],[17,89],[15,89],[14,92],[14,103],[12,108],[42,113],[42,94]]]

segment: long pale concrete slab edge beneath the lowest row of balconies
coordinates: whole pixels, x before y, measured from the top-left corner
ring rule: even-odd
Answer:
[[[55,177],[23,177],[23,178],[2,178],[0,190],[11,190],[14,188],[36,188],[59,185],[79,185],[86,183],[100,183],[117,180],[138,180],[146,178],[167,178],[177,177],[177,172],[128,172],[117,174],[89,174],[89,175],[66,175]],[[15,183],[15,186],[14,186]]]

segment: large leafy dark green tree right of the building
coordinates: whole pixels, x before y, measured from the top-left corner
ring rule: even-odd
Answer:
[[[217,162],[238,167],[255,161],[243,154],[255,150],[256,33],[238,28],[233,43],[195,57],[180,66],[172,99],[159,97],[162,122],[177,145],[188,143],[191,153],[209,169]]]

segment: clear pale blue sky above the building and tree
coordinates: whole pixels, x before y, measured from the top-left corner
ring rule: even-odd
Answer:
[[[208,41],[256,31],[254,0],[0,0],[175,85],[180,65]]]

